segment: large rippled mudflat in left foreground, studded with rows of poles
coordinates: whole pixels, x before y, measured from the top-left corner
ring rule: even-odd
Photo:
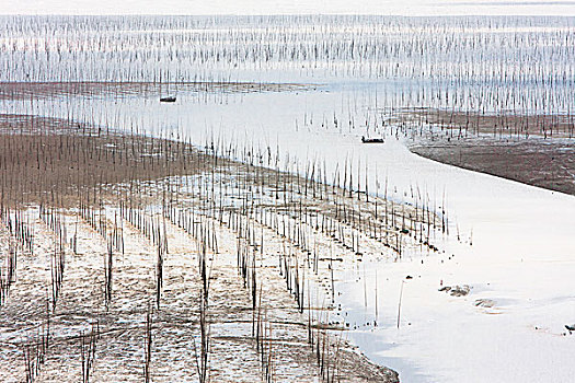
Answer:
[[[212,382],[398,381],[330,320],[330,272],[427,246],[435,216],[186,143],[2,118],[2,382],[199,380],[205,339]]]

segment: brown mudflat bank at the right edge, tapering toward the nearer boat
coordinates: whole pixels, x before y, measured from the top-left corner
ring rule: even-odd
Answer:
[[[573,116],[414,114],[436,126],[409,146],[434,161],[575,195]],[[424,129],[425,130],[425,129]]]

